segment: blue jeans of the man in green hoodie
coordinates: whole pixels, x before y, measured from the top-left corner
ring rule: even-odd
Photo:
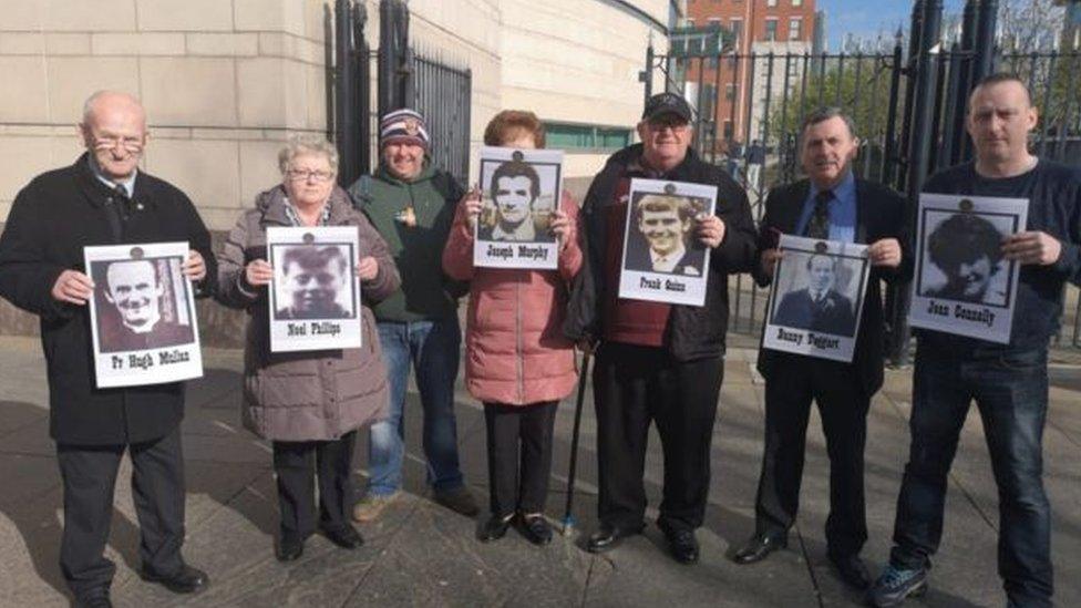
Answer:
[[[457,461],[457,427],[454,419],[454,380],[457,378],[462,330],[457,317],[435,321],[379,321],[390,380],[388,419],[369,432],[368,493],[393,494],[402,486],[402,458],[405,455],[405,384],[410,362],[416,370],[416,388],[424,409],[424,456],[428,483],[436,492],[465,485]]]

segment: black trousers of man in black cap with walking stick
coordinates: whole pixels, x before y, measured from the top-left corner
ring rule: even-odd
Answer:
[[[655,422],[665,454],[658,523],[681,529],[702,525],[723,374],[718,358],[680,362],[661,348],[601,344],[593,381],[603,524],[642,524],[646,442]]]

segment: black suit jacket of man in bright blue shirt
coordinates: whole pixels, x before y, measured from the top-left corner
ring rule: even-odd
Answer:
[[[811,183],[802,179],[779,186],[765,199],[765,215],[759,225],[759,260],[768,246],[771,228],[784,234],[795,234],[803,213],[803,204],[811,194]],[[872,244],[883,238],[896,238],[902,247],[902,261],[897,268],[872,267],[871,280],[863,300],[863,317],[852,363],[854,377],[867,396],[874,394],[883,381],[884,320],[882,311],[882,284],[907,280],[912,276],[913,256],[908,243],[905,199],[894,190],[874,182],[856,179],[856,243]],[[754,279],[759,285],[770,284],[762,274],[762,265],[754,265]],[[774,370],[784,365],[806,364],[807,358],[759,349],[759,372],[766,381]]]

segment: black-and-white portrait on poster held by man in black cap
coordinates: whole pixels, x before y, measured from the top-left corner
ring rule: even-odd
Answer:
[[[706,247],[693,238],[694,218],[706,200],[641,193],[631,198],[627,268],[644,272],[702,276]]]

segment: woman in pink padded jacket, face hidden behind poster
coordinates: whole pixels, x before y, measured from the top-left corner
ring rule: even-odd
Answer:
[[[488,123],[484,143],[544,147],[544,126],[532,112],[506,110]],[[559,243],[556,270],[474,268],[480,213],[481,197],[474,189],[459,204],[443,249],[443,270],[471,281],[465,385],[484,403],[492,509],[478,537],[502,538],[516,521],[523,536],[544,545],[552,540],[544,502],[556,408],[578,379],[574,344],[560,331],[568,286],[581,267],[578,206],[564,193],[552,216],[550,230]]]

